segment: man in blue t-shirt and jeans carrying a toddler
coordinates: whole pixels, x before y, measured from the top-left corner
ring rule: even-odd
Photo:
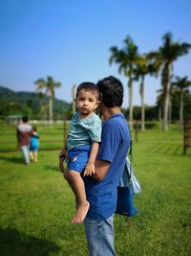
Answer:
[[[85,177],[90,209],[84,221],[90,256],[115,256],[113,218],[117,206],[117,185],[130,144],[127,122],[120,111],[123,86],[115,77],[97,82],[102,95],[101,144],[96,157],[96,173]]]

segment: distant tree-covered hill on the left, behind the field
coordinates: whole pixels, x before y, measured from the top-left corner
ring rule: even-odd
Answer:
[[[39,117],[40,105],[48,105],[48,97],[36,92],[15,92],[4,86],[0,86],[0,115],[28,114],[29,109],[33,117]],[[70,110],[71,104],[65,101],[53,99],[53,115],[61,118]],[[47,111],[48,112],[48,111]]]

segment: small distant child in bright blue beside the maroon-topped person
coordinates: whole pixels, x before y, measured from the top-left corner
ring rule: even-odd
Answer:
[[[38,160],[38,147],[39,147],[39,135],[37,128],[32,127],[31,145],[30,145],[30,157],[31,160],[37,162]]]

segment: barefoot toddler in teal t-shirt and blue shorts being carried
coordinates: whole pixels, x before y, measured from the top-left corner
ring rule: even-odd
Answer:
[[[83,176],[95,174],[96,154],[101,140],[101,121],[94,113],[99,104],[99,90],[93,82],[83,82],[74,99],[78,111],[69,128],[67,144],[60,152],[60,170],[64,173],[76,197],[76,212],[72,222],[84,221],[90,203],[86,199]],[[63,160],[67,169],[63,168]]]

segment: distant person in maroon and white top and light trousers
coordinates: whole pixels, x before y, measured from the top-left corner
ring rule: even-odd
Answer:
[[[32,126],[28,124],[28,117],[22,117],[22,123],[17,127],[17,141],[23,153],[26,164],[30,163],[30,143],[32,135]]]

